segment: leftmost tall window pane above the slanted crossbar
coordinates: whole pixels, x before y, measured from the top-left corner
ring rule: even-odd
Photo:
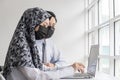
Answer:
[[[97,4],[89,10],[89,29],[98,25]]]

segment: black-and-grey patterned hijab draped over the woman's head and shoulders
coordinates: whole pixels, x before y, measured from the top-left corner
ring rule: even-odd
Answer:
[[[35,43],[35,27],[49,17],[50,14],[37,7],[23,13],[8,48],[3,71],[5,78],[14,67],[41,69],[42,62]]]

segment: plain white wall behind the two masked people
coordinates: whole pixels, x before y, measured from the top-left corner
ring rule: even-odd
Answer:
[[[84,61],[84,0],[0,0],[0,64],[24,10],[41,7],[55,12],[58,23],[52,37],[66,60]]]

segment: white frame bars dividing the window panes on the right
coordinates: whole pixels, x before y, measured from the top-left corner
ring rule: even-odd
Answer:
[[[115,16],[115,0],[110,0],[109,2],[109,8],[110,8],[110,11],[109,11],[109,20],[108,21],[105,21],[101,24],[99,24],[99,1],[100,0],[93,0],[93,2],[91,2],[89,4],[89,0],[86,0],[86,15],[85,15],[85,25],[86,25],[86,55],[88,56],[88,52],[89,52],[89,35],[94,32],[94,31],[97,31],[98,32],[98,44],[99,44],[99,29],[100,28],[103,28],[105,27],[105,25],[109,25],[109,28],[110,28],[110,33],[109,33],[109,37],[110,37],[110,55],[99,55],[99,59],[98,59],[98,70],[99,70],[99,60],[102,59],[102,58],[107,58],[107,59],[110,59],[110,74],[111,75],[114,75],[115,76],[115,63],[116,63],[116,60],[119,60],[120,59],[120,56],[116,56],[115,55],[115,22],[116,21],[120,21],[120,14]],[[97,20],[98,20],[98,25],[97,26],[94,26],[92,27],[91,29],[89,29],[89,11],[92,7],[94,7],[95,5],[97,4],[98,6],[98,10],[97,10],[97,14],[98,14],[98,17],[97,17]]]

